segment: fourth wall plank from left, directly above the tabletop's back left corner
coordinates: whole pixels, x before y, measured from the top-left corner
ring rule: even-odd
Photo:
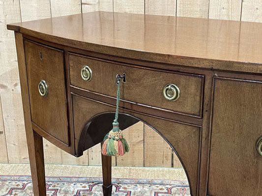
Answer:
[[[113,0],[82,0],[82,12],[111,11]]]

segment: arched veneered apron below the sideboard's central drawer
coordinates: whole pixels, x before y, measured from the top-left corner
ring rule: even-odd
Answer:
[[[73,96],[72,101],[74,111],[77,111],[74,113],[74,128],[76,140],[75,144],[76,148],[78,148],[78,146],[81,146],[81,144],[79,144],[79,140],[81,140],[80,135],[82,129],[89,119],[96,114],[114,112],[115,106],[76,95]],[[188,178],[192,188],[192,195],[197,195],[200,127],[176,123],[174,121],[166,121],[150,115],[139,114],[129,110],[119,109],[119,112],[132,115],[146,124],[150,124],[150,126],[157,130],[161,136],[166,138],[169,144],[175,147],[177,154],[181,158],[184,169],[188,172]],[[157,154],[159,155],[157,155],[157,159],[159,158],[160,160],[163,160],[163,153]],[[164,155],[167,156],[167,154]],[[164,159],[167,158],[164,157]]]

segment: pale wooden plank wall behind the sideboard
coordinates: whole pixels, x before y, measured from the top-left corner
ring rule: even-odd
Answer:
[[[261,0],[0,0],[0,163],[29,162],[14,33],[6,24],[98,10],[262,22]],[[148,125],[140,122],[124,133],[131,152],[113,165],[181,168],[170,146]],[[46,163],[101,165],[99,145],[80,158],[46,140],[44,149]]]

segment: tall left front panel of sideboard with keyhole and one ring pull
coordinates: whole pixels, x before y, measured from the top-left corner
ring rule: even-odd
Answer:
[[[63,51],[25,40],[25,52],[32,122],[68,145]],[[39,93],[41,80],[48,87],[46,97]]]

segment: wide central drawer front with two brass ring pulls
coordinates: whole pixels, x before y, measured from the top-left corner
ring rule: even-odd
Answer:
[[[121,85],[121,99],[140,103],[171,112],[201,117],[203,80],[202,75],[180,74],[144,69],[130,65],[69,54],[71,85],[116,97],[116,74],[126,73],[126,83]],[[90,81],[81,76],[82,67],[92,71]],[[163,88],[174,83],[180,90],[180,98],[167,100]]]

